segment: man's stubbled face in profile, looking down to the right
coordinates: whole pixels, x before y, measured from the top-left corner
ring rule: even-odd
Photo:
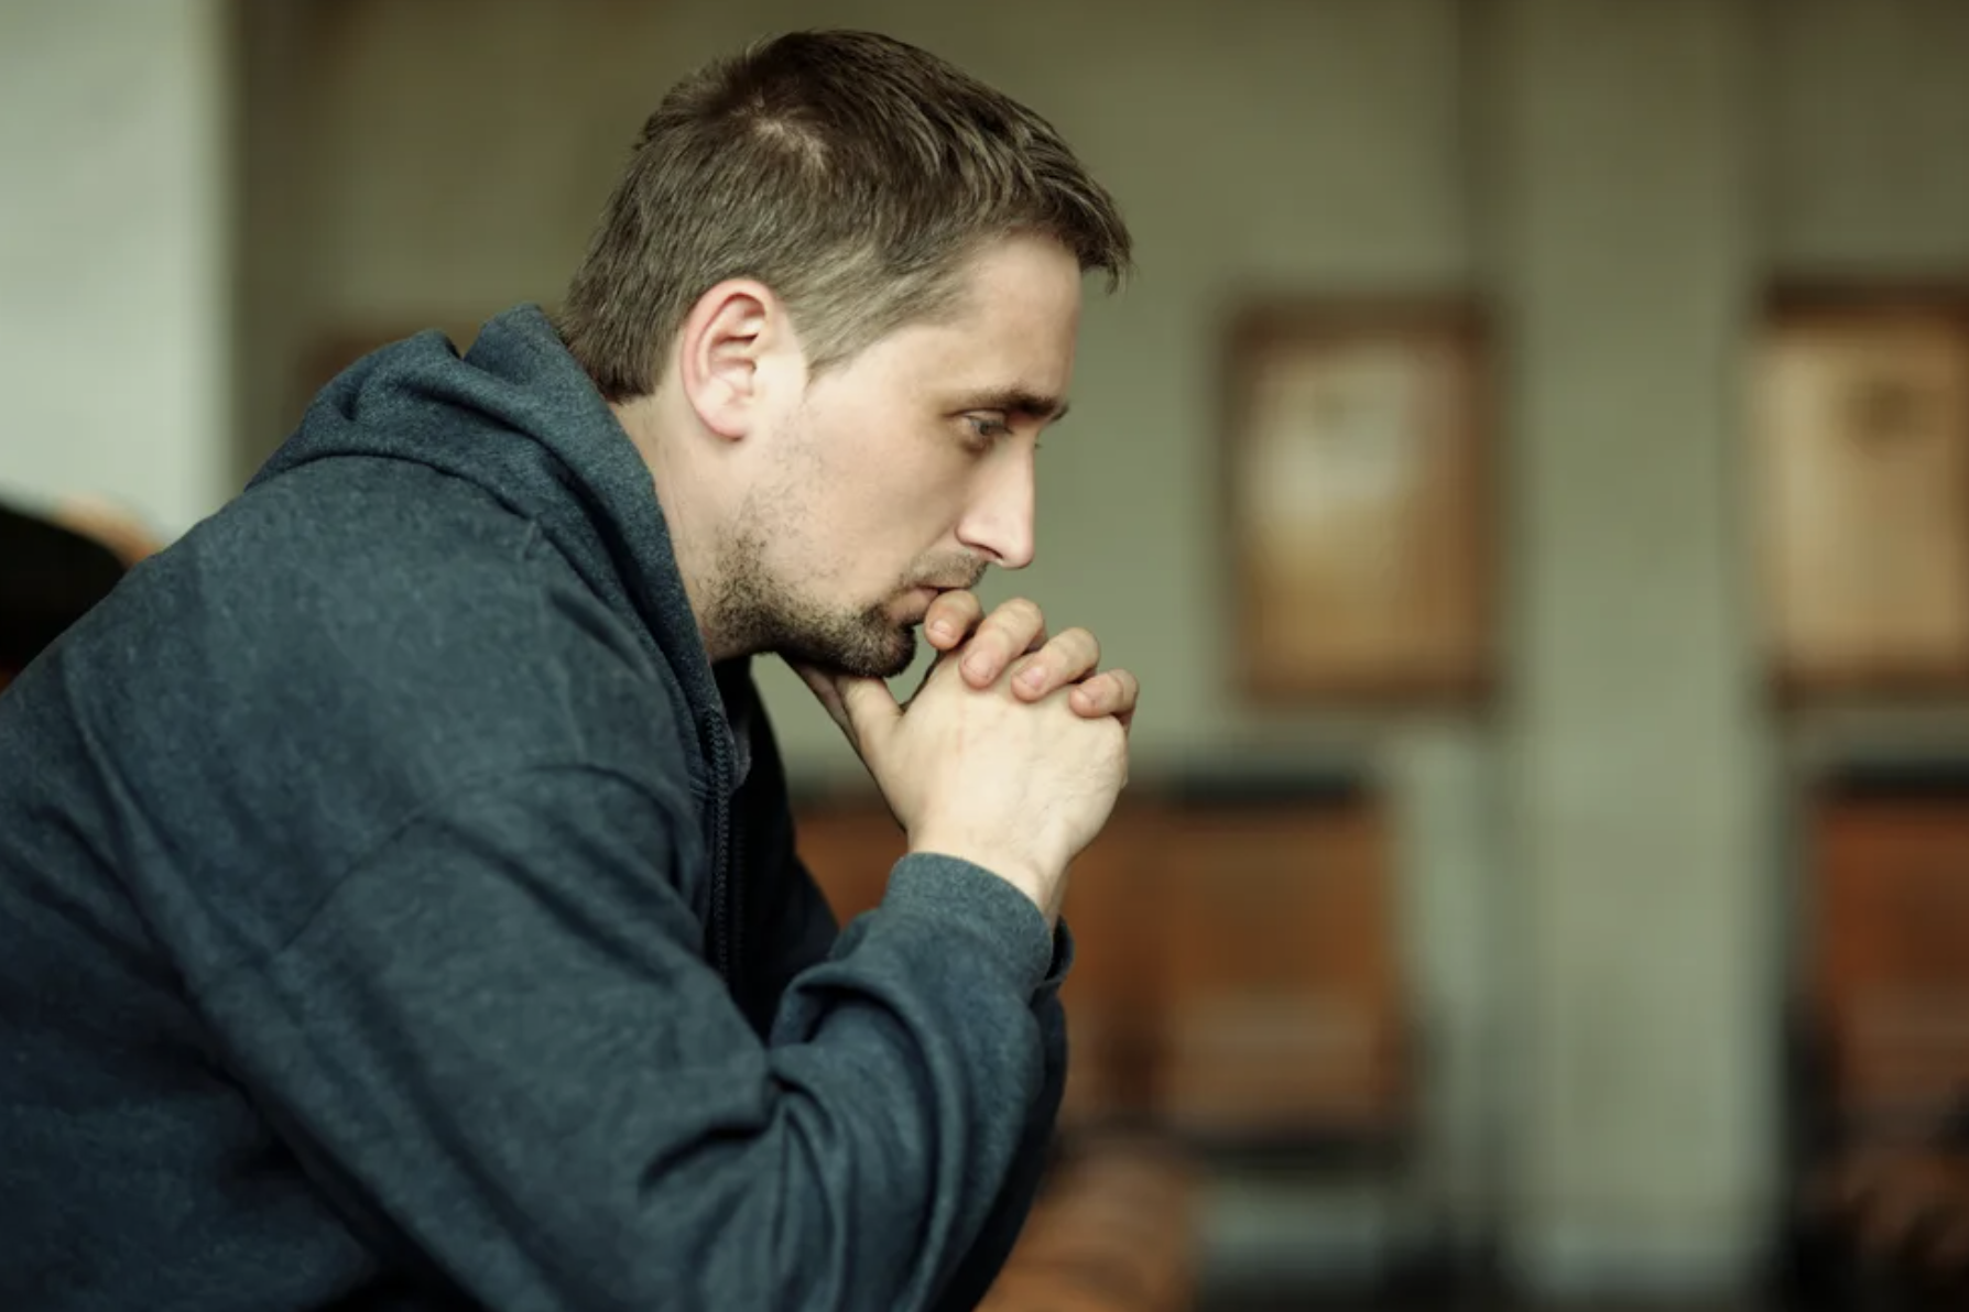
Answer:
[[[1048,238],[979,254],[953,317],[813,380],[727,535],[713,600],[752,651],[886,679],[943,588],[1034,551],[1034,454],[1073,374],[1081,269]]]

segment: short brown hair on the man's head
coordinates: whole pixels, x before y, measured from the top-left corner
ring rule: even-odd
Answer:
[[[559,315],[603,395],[656,389],[697,297],[756,277],[815,372],[947,311],[967,258],[1059,240],[1112,291],[1130,264],[1112,197],[1044,118],[868,31],[799,31],[679,83],[650,116]]]

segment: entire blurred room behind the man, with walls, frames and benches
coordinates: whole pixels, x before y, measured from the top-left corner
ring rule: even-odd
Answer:
[[[988,590],[1144,688],[1002,1306],[1969,1306],[1961,0],[0,0],[0,500],[183,533],[811,26],[1138,238]]]

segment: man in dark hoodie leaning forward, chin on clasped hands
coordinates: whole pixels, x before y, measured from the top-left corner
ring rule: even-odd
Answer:
[[[1136,686],[969,588],[1126,260],[1032,112],[794,35],[664,100],[557,321],[331,384],[0,702],[0,1306],[973,1304]],[[839,936],[768,651],[910,838]]]

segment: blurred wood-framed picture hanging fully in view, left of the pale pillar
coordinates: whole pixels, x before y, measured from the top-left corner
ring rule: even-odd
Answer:
[[[1491,683],[1487,346],[1467,305],[1264,305],[1233,323],[1225,527],[1256,702]]]

